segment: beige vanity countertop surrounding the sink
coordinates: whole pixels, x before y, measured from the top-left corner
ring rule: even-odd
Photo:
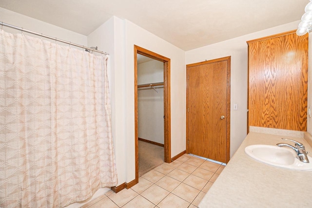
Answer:
[[[254,144],[292,144],[281,140],[282,137],[299,141],[307,151],[312,152],[312,147],[304,138],[249,132],[198,207],[312,208],[312,171],[266,165],[252,159],[244,151],[245,147]]]

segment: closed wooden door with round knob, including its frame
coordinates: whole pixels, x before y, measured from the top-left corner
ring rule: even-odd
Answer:
[[[230,60],[187,65],[187,152],[230,159]]]

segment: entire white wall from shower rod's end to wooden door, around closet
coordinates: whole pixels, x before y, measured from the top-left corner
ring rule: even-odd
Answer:
[[[88,44],[98,46],[111,57],[112,132],[119,186],[135,179],[134,45],[171,58],[172,156],[185,150],[185,52],[116,17],[90,34]]]

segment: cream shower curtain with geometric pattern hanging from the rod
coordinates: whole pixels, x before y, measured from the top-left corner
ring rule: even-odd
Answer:
[[[117,185],[107,56],[0,31],[0,207]]]

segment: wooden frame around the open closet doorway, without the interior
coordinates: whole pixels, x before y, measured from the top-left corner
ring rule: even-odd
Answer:
[[[164,63],[164,161],[166,163],[171,163],[170,58],[163,57],[152,51],[134,45],[136,183],[138,183],[137,54],[150,57]]]

